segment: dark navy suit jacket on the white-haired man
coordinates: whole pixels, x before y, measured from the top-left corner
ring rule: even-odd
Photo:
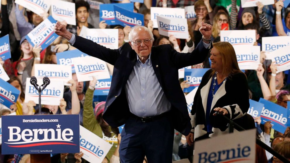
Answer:
[[[91,40],[76,36],[74,47],[90,56],[114,65],[111,88],[106,100],[103,119],[112,127],[125,124],[130,110],[125,94],[125,85],[137,61],[136,52],[128,43],[119,49],[108,49]],[[151,62],[156,77],[166,98],[171,103],[172,125],[184,135],[191,130],[187,104],[178,80],[178,69],[196,65],[205,60],[209,49],[202,43],[191,53],[178,53],[170,44],[153,46]]]

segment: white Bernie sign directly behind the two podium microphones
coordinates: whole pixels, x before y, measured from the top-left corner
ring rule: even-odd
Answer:
[[[42,80],[37,81],[38,85],[42,84]],[[42,105],[58,105],[61,103],[63,98],[63,81],[53,81],[41,93],[41,104]],[[26,87],[25,87],[25,103],[32,100],[36,104],[39,104],[38,101],[38,91],[30,84],[30,78],[26,78]]]

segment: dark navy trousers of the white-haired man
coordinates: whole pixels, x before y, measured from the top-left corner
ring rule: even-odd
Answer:
[[[121,133],[121,163],[142,163],[146,155],[149,163],[172,162],[174,129],[170,115],[152,122],[129,117]]]

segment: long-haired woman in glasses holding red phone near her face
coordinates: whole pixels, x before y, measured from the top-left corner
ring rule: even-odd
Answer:
[[[221,30],[229,30],[229,15],[225,12],[218,12],[213,17],[213,38],[220,36]]]

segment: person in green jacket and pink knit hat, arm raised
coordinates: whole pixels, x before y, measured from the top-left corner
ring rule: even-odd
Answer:
[[[106,158],[103,160],[103,162],[110,162],[110,159],[118,145],[117,136],[119,130],[118,128],[112,128],[103,120],[102,116],[105,109],[105,101],[97,103],[95,109],[93,108],[93,94],[96,82],[96,78],[93,77],[93,80],[90,81],[86,92],[86,98],[84,100],[83,124],[86,129],[113,145],[106,155]]]

